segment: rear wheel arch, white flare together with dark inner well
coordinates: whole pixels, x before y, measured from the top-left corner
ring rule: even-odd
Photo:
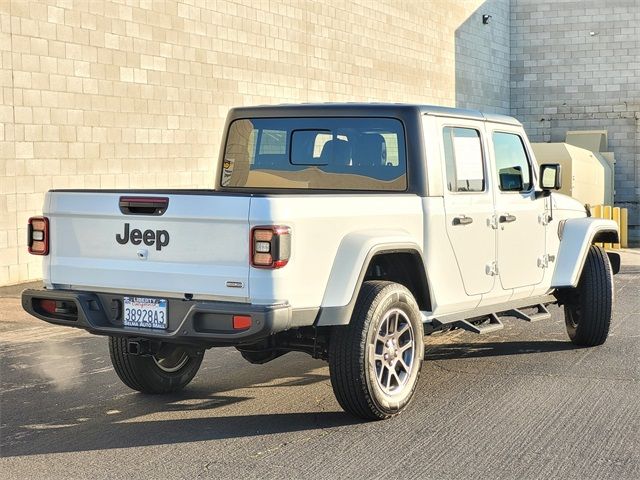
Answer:
[[[406,238],[389,238],[382,243],[370,240],[360,242],[356,251],[351,248],[353,245],[342,245],[339,249],[317,326],[349,324],[358,292],[367,280],[400,283],[411,291],[421,310],[431,309],[429,281],[418,244]]]

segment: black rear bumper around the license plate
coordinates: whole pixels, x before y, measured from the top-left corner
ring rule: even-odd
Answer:
[[[250,344],[287,330],[291,326],[289,305],[252,305],[169,298],[166,330],[128,327],[122,319],[124,296],[133,295],[71,290],[25,290],[22,293],[22,308],[46,322],[82,328],[97,335],[138,337],[198,346]],[[40,306],[40,300],[57,300],[69,304],[72,302],[75,309],[50,313]],[[244,330],[234,330],[234,315],[250,316],[251,326]]]

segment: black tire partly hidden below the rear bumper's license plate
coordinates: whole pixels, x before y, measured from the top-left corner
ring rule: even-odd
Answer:
[[[203,352],[194,354],[168,343],[154,356],[129,355],[127,339],[122,337],[109,337],[109,353],[120,380],[132,390],[150,394],[182,390],[198,372],[203,358]]]

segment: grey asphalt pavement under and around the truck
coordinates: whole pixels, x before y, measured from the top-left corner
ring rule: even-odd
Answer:
[[[568,342],[562,311],[427,338],[410,408],[343,413],[328,368],[213,349],[184,392],[145,396],[107,342],[0,296],[0,475],[71,478],[640,478],[640,252],[615,277],[611,335]]]

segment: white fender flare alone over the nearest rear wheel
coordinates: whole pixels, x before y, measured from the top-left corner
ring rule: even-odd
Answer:
[[[376,230],[345,236],[329,274],[316,326],[348,325],[371,259],[395,252],[416,253],[424,263],[422,248],[408,234],[394,231],[385,235]]]

